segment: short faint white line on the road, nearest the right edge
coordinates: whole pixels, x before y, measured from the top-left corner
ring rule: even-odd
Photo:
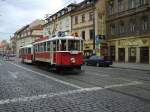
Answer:
[[[105,89],[109,89],[109,88],[115,88],[115,87],[125,87],[125,86],[133,86],[133,85],[138,85],[138,84],[143,84],[142,82],[138,82],[138,81],[132,81],[130,83],[124,83],[124,84],[114,84],[114,85],[108,85],[105,86]]]

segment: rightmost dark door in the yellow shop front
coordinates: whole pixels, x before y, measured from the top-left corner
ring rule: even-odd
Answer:
[[[141,63],[149,63],[149,48],[148,47],[140,48],[140,61]]]

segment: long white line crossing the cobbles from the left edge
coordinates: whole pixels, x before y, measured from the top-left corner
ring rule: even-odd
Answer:
[[[0,100],[0,105],[9,104],[9,103],[17,103],[17,102],[28,102],[28,101],[40,100],[40,99],[45,99],[45,98],[52,98],[52,97],[57,97],[57,96],[59,96],[59,97],[60,96],[67,96],[70,94],[98,91],[101,89],[103,89],[103,88],[101,88],[101,87],[83,88],[83,89],[71,90],[71,91],[67,91],[67,92],[50,93],[50,94],[43,94],[43,95],[37,95],[37,96],[31,96],[31,97],[6,99],[6,100]]]

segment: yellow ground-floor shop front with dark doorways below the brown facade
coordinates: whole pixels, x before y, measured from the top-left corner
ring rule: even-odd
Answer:
[[[109,56],[116,62],[150,63],[150,39],[109,40]]]

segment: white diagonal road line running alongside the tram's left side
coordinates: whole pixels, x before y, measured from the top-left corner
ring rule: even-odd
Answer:
[[[51,76],[48,76],[48,75],[45,75],[45,74],[42,74],[42,73],[39,73],[39,72],[33,71],[33,70],[29,69],[29,68],[26,68],[26,67],[23,67],[23,66],[17,65],[17,64],[12,63],[12,62],[8,62],[8,63],[13,64],[13,65],[15,65],[15,66],[17,66],[17,67],[19,67],[19,68],[21,68],[21,69],[24,69],[24,70],[26,70],[26,71],[29,71],[29,72],[32,72],[32,73],[38,74],[39,76],[49,78],[49,79],[54,80],[54,81],[56,81],[56,82],[59,82],[59,83],[62,83],[62,84],[65,84],[65,85],[68,85],[68,86],[71,86],[71,87],[74,87],[74,88],[77,88],[77,89],[82,89],[82,87],[80,87],[80,86],[78,86],[78,85],[71,84],[71,83],[69,83],[69,82],[65,82],[65,81],[62,81],[62,80],[56,79],[56,78],[54,78],[54,77],[51,77]]]

